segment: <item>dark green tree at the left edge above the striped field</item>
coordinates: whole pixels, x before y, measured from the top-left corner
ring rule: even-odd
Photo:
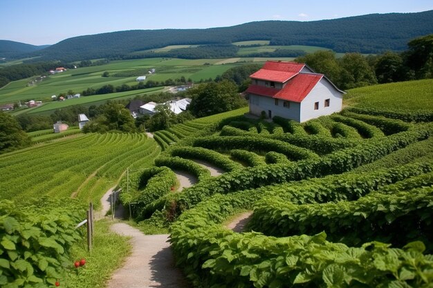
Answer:
[[[0,154],[30,146],[30,137],[21,129],[17,120],[0,112]]]

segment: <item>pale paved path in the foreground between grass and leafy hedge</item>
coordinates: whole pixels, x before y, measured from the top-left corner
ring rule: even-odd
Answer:
[[[125,223],[111,225],[111,231],[131,237],[132,254],[108,283],[108,288],[185,288],[187,282],[174,266],[168,235],[144,235]]]

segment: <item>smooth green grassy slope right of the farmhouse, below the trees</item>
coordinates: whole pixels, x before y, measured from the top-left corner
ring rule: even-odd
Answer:
[[[432,110],[432,87],[433,79],[425,79],[354,88],[344,95],[344,104],[382,110]]]

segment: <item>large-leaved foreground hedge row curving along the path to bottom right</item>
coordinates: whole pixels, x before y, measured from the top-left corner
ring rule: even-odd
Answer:
[[[433,260],[423,256],[420,242],[403,249],[379,242],[355,248],[328,242],[325,233],[275,238],[223,227],[228,216],[251,209],[260,197],[250,192],[214,195],[172,224],[176,265],[194,286],[427,287],[433,281]]]

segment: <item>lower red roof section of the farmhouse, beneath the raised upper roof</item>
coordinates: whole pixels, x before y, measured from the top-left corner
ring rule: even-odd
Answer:
[[[259,85],[250,85],[247,92],[300,103],[322,77],[322,74],[300,73],[290,79],[281,90]]]

